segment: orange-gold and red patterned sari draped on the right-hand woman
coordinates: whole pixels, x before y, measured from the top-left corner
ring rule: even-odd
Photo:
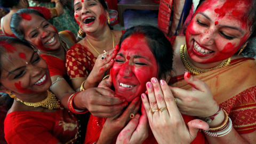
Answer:
[[[214,99],[225,109],[239,134],[256,130],[256,65],[252,58],[232,60],[227,67],[194,75],[211,89]],[[172,86],[190,90],[183,76]]]

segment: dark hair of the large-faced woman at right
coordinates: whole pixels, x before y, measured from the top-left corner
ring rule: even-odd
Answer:
[[[206,0],[200,0],[196,9]],[[221,1],[221,0],[219,0]],[[255,45],[256,45],[256,0],[251,0],[250,5],[247,6],[248,11],[244,15],[245,21],[251,22],[250,23],[250,31],[251,35],[250,37],[246,40],[247,45],[244,47],[244,50],[242,51],[241,55],[245,55],[246,57],[255,57],[256,52],[255,52]],[[245,43],[246,43],[245,42]],[[235,54],[238,54],[239,51]]]

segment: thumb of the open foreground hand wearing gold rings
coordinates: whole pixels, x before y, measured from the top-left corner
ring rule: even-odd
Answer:
[[[200,119],[194,119],[194,120],[188,122],[187,125],[188,125],[189,133],[193,140],[196,138],[196,135],[197,135],[197,132],[199,129],[202,129],[205,131],[209,130],[209,125]]]

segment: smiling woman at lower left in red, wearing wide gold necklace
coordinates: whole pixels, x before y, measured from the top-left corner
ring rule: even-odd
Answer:
[[[29,43],[0,37],[1,92],[14,98],[4,122],[8,143],[66,143],[79,136],[78,117],[47,91],[46,62]]]

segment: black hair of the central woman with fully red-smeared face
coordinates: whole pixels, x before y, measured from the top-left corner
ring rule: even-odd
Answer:
[[[163,31],[157,27],[150,25],[138,25],[127,29],[121,37],[122,42],[134,34],[143,34],[150,51],[154,54],[158,65],[158,77],[162,78],[162,74],[171,75],[173,50],[170,41],[165,37]],[[129,48],[128,48],[129,49]]]

